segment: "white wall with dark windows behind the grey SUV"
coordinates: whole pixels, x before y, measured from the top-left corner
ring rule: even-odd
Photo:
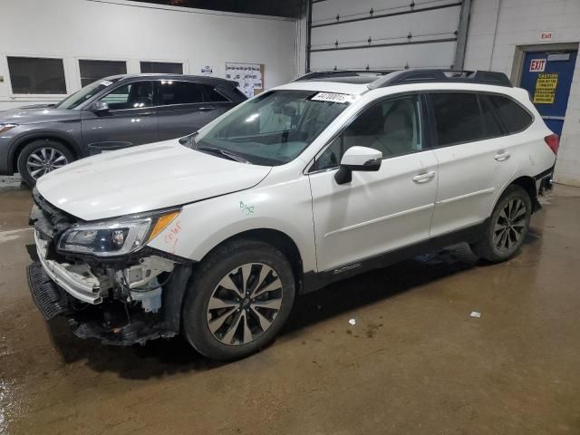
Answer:
[[[6,55],[61,57],[67,91],[81,88],[78,59],[184,63],[184,73],[205,65],[225,77],[225,63],[264,63],[265,85],[293,80],[296,23],[263,15],[150,5],[124,0],[0,0],[0,110],[55,96],[14,96]]]

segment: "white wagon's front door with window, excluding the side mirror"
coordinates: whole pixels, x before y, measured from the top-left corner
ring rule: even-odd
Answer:
[[[319,272],[429,238],[437,160],[423,140],[420,106],[417,95],[372,105],[315,160],[309,177]],[[381,169],[354,171],[339,185],[335,169],[354,145],[381,150]]]

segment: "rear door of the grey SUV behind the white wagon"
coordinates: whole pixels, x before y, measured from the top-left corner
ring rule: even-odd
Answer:
[[[156,82],[159,105],[160,140],[198,131],[225,111],[223,102],[209,102],[204,85],[196,82],[160,80]]]

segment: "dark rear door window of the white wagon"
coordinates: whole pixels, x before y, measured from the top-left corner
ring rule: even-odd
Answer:
[[[484,139],[477,94],[432,93],[430,98],[439,146]]]

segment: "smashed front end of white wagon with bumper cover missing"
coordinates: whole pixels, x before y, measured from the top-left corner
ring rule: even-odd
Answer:
[[[187,260],[148,247],[106,260],[63,256],[54,248],[58,226],[67,225],[58,213],[35,208],[31,214],[38,261],[28,266],[28,284],[45,320],[66,316],[77,336],[117,345],[179,333]]]

